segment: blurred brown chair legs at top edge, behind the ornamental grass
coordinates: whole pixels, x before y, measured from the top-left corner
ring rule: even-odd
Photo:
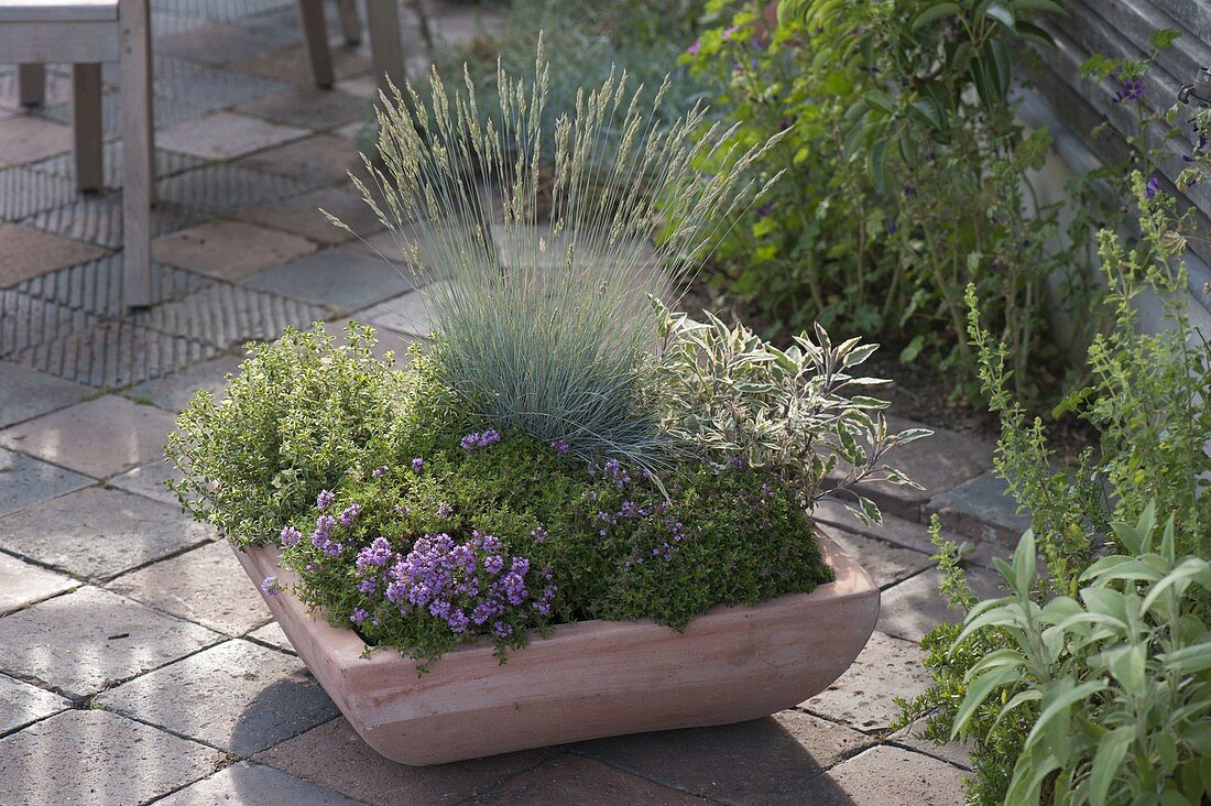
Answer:
[[[356,0],[337,0],[340,10],[340,28],[345,41],[361,41],[361,23],[357,18]],[[303,39],[315,85],[323,90],[332,87],[332,50],[328,47],[328,28],[323,18],[323,0],[298,0],[303,18]],[[390,79],[397,87],[403,86],[403,47],[400,45],[398,0],[366,0],[366,23],[371,35],[371,53],[379,87],[388,87]]]

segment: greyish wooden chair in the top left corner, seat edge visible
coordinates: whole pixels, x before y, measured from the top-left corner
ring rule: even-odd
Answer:
[[[147,0],[0,0],[0,62],[16,62],[22,103],[40,104],[47,62],[71,64],[76,185],[104,183],[101,63],[122,88],[122,299],[151,304],[151,27]]]

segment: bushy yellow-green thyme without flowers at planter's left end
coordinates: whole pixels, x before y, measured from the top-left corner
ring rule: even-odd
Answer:
[[[200,391],[165,452],[184,476],[182,505],[235,544],[277,535],[320,487],[339,484],[400,423],[404,376],[371,355],[373,331],[350,325],[346,344],[316,325],[248,345],[216,401]]]

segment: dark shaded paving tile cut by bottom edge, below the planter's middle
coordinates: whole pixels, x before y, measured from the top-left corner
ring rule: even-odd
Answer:
[[[486,793],[467,802],[488,804],[558,804],[575,793],[575,802],[584,806],[614,804],[708,804],[701,798],[668,789],[653,781],[606,766],[599,761],[563,754],[529,772],[512,778],[500,789]]]

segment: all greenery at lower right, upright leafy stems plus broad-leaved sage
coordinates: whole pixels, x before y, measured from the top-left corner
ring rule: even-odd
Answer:
[[[1201,761],[1211,751],[1211,348],[1186,311],[1189,213],[1175,217],[1155,178],[1136,172],[1131,183],[1141,239],[1098,238],[1115,326],[1090,348],[1091,385],[1061,405],[1101,434],[1074,467],[1052,469],[1041,419],[1006,388],[1009,348],[968,291],[981,378],[1001,419],[997,468],[1032,532],[1000,566],[1012,596],[976,604],[935,521],[942,591],[968,619],[923,641],[932,687],[903,703],[903,720],[925,718],[924,736],[939,742],[972,739],[971,802],[1198,804],[1211,790]],[[1147,296],[1170,325],[1159,335],[1140,331]]]

